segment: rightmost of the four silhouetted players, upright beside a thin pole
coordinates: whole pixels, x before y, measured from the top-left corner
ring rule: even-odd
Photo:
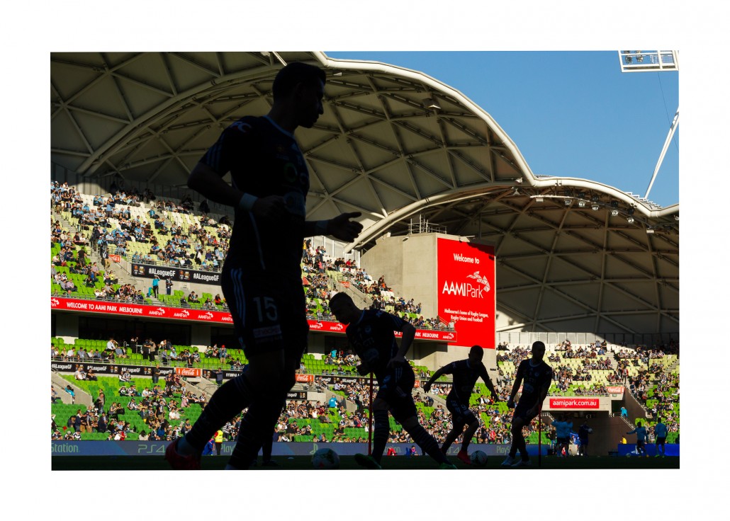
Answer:
[[[538,340],[532,344],[532,358],[524,359],[517,368],[515,383],[512,385],[510,399],[507,400],[507,407],[515,409],[512,415],[512,447],[510,454],[502,462],[503,467],[530,466],[522,428],[538,415],[542,401],[548,396],[550,382],[553,381],[553,368],[545,363],[543,356],[545,356],[545,344]],[[520,390],[520,385],[523,386],[522,394],[515,407],[515,396]],[[515,460],[518,450],[520,461]]]

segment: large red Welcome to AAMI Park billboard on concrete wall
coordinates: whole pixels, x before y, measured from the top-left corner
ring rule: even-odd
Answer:
[[[458,345],[494,349],[494,247],[439,238],[437,248],[439,316],[454,323]]]

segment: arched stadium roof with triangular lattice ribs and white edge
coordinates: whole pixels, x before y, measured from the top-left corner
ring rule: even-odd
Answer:
[[[223,128],[269,110],[283,63],[318,64],[324,114],[297,130],[309,219],[361,211],[351,248],[414,223],[493,243],[509,329],[679,331],[679,205],[534,175],[488,107],[426,74],[322,52],[50,58],[51,161],[91,181],[177,187]]]

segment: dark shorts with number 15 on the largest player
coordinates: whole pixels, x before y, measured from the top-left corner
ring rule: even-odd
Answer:
[[[301,280],[246,276],[240,267],[223,267],[220,288],[247,357],[285,350],[292,358],[301,358],[307,351],[310,326]]]

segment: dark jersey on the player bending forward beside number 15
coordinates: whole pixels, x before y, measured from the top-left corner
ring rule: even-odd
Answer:
[[[357,322],[347,326],[347,340],[368,365],[378,382],[386,375],[385,366],[398,353],[394,331],[403,331],[402,318],[381,310],[364,310]]]

